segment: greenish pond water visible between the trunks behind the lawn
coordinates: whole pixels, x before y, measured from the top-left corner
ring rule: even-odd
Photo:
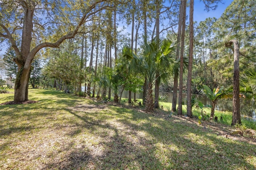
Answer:
[[[137,93],[136,98],[142,99],[142,93]],[[172,103],[172,93],[160,92],[159,96],[167,96],[166,102]],[[132,93],[133,99],[134,93]],[[122,98],[128,98],[128,91],[124,91]],[[205,95],[196,95],[196,98],[200,100],[204,105],[211,105],[211,101]],[[183,95],[183,99],[186,100],[186,94]],[[178,104],[178,99],[177,99]],[[232,112],[233,104],[232,99],[218,99],[215,110],[219,111],[231,111]],[[240,114],[245,117],[251,117],[256,121],[256,104],[251,105],[250,101],[240,101]]]

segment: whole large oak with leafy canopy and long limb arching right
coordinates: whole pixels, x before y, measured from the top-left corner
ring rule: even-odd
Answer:
[[[18,73],[14,101],[28,100],[31,63],[44,47],[59,47],[86,27],[98,12],[114,8],[115,0],[2,0],[0,2],[0,42],[9,42],[15,51]],[[18,46],[17,42],[21,41]]]

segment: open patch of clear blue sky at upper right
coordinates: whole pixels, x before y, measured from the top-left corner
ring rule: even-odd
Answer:
[[[202,1],[200,2],[200,0],[194,0],[194,21],[199,23],[200,21],[204,21],[209,17],[215,17],[218,19],[232,2],[233,0],[222,0],[223,4],[218,3],[216,10],[207,12],[204,10],[204,3]],[[189,12],[189,8],[187,9],[187,12]]]

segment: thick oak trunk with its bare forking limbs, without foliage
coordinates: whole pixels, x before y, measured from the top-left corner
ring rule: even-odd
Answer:
[[[70,28],[70,32],[67,34],[64,34],[61,36],[56,42],[43,42],[38,45],[35,43],[33,45],[36,45],[34,48],[31,49],[31,42],[32,42],[32,31],[33,31],[33,17],[34,17],[34,10],[37,9],[36,7],[37,1],[32,0],[20,0],[16,1],[17,4],[20,4],[21,8],[18,10],[23,10],[24,16],[23,18],[20,18],[21,20],[20,26],[22,26],[22,36],[20,37],[13,37],[13,33],[16,32],[15,30],[17,28],[14,28],[13,30],[8,30],[9,27],[12,24],[9,24],[9,26],[5,25],[6,23],[0,22],[0,30],[1,34],[0,37],[8,39],[12,47],[14,48],[16,57],[14,58],[15,63],[18,65],[18,74],[16,76],[16,85],[14,87],[14,101],[20,102],[20,101],[26,101],[28,100],[28,81],[29,81],[29,75],[30,75],[30,69],[31,69],[31,63],[34,59],[34,56],[36,53],[44,48],[44,47],[59,47],[59,45],[67,39],[72,39],[75,37],[76,34],[80,31],[80,28],[87,22],[87,19],[94,15],[97,12],[100,12],[101,10],[104,10],[106,8],[112,8],[108,4],[106,5],[100,5],[105,0],[98,0],[96,2],[92,2],[91,4],[88,4],[86,8],[83,10],[84,13],[80,17],[80,20],[76,24],[76,26],[73,28]],[[97,9],[97,12],[92,11],[93,9]],[[20,29],[20,26],[18,29]],[[2,32],[3,31],[3,32]],[[17,34],[15,34],[16,36]],[[20,49],[18,45],[16,44],[16,40],[21,40]]]

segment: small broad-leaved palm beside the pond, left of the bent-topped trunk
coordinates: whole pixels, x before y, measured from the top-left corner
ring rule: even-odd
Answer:
[[[204,89],[201,90],[202,94],[205,94],[208,99],[212,101],[212,109],[210,119],[214,118],[214,109],[217,103],[217,99],[219,99],[222,95],[226,94],[226,92],[222,91],[223,87],[214,88],[213,91],[207,85],[203,85]]]

